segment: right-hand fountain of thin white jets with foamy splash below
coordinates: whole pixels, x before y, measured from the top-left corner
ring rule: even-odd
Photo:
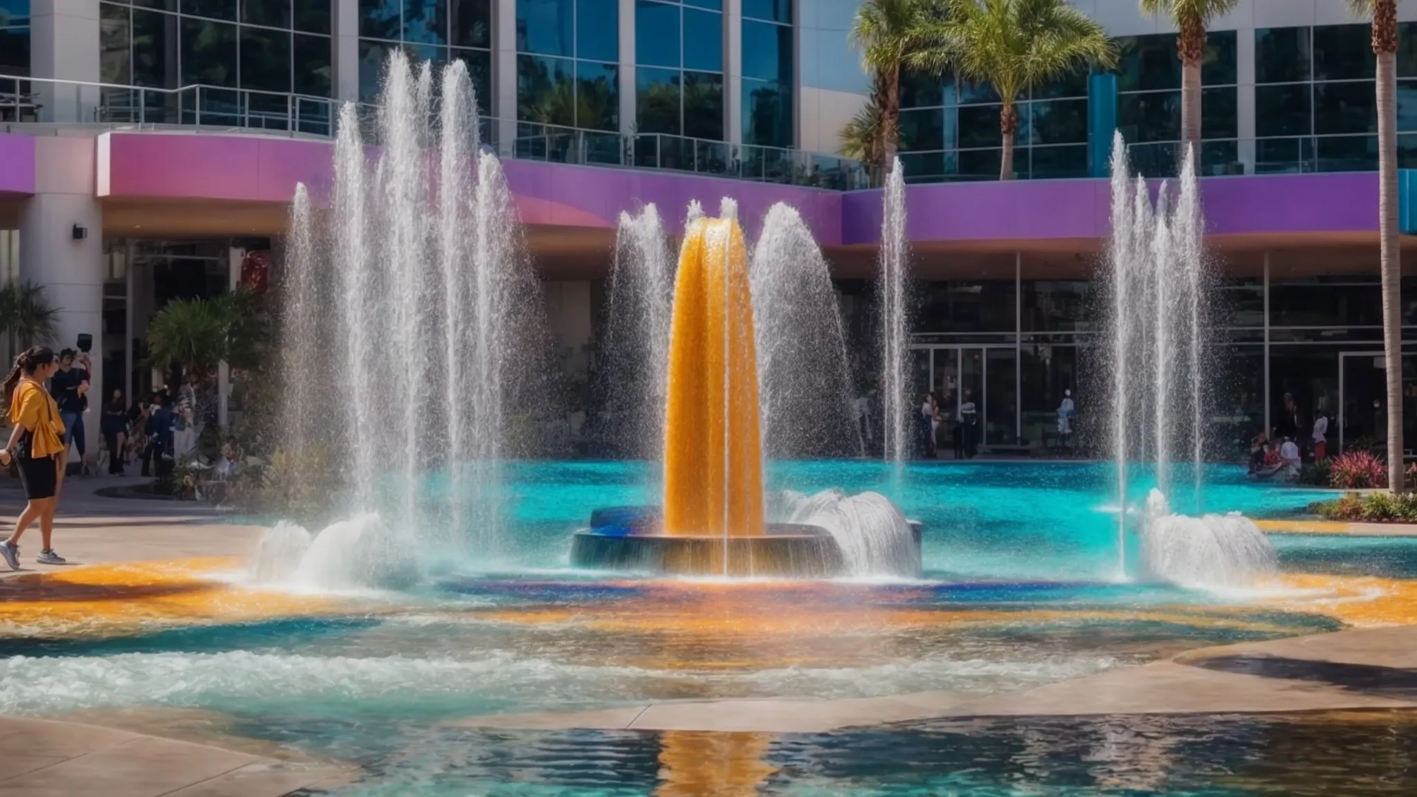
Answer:
[[[1155,486],[1145,499],[1139,529],[1142,573],[1187,586],[1234,587],[1277,567],[1274,547],[1251,520],[1238,513],[1200,515],[1206,386],[1214,372],[1214,363],[1202,360],[1206,353],[1214,356],[1206,340],[1209,271],[1202,231],[1195,152],[1185,157],[1175,204],[1162,183],[1153,208],[1146,182],[1131,179],[1127,146],[1117,133],[1107,277],[1121,573],[1128,572],[1132,465],[1149,459]],[[1172,512],[1182,451],[1187,452],[1197,516]]]

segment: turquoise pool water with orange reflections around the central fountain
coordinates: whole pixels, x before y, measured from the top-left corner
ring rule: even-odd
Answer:
[[[1207,644],[1339,628],[1321,614],[1236,596],[1119,583],[1114,475],[1102,465],[914,464],[896,474],[876,462],[778,462],[768,475],[774,489],[891,496],[924,523],[924,577],[726,586],[578,573],[565,564],[570,532],[597,506],[649,502],[648,468],[517,464],[495,556],[451,563],[410,590],[349,597],[347,611],[332,617],[122,638],[0,638],[0,713],[220,712],[237,733],[361,764],[367,776],[350,794],[700,794],[714,793],[694,790],[703,773],[683,786],[662,760],[683,743],[672,736],[480,733],[444,723],[645,699],[986,695]],[[1139,498],[1144,472],[1134,485]],[[1204,503],[1274,516],[1323,496],[1213,468]],[[1189,509],[1189,496],[1176,505]],[[1417,546],[1391,540],[1292,537],[1277,546],[1295,570],[1417,572]],[[1268,720],[1138,722],[927,725],[724,737],[703,749],[708,760],[771,770],[750,787],[764,794],[1265,793],[1183,753],[1230,733],[1234,756],[1226,760],[1263,770],[1257,740],[1278,733]],[[1090,756],[1117,757],[1084,766],[1093,759],[1077,756],[1087,745]],[[1169,763],[1156,780],[1138,780],[1146,756],[1161,754],[1153,749]]]

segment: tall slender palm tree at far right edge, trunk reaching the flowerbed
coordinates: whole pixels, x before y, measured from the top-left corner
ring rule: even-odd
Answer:
[[[1349,0],[1373,20],[1377,58],[1377,228],[1383,278],[1383,360],[1387,369],[1387,488],[1403,489],[1401,261],[1397,240],[1397,0]]]

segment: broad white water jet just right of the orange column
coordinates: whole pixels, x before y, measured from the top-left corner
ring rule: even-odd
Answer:
[[[860,457],[836,289],[795,208],[768,210],[750,274],[764,455]]]

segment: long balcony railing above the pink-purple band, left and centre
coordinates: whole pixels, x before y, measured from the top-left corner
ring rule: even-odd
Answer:
[[[190,85],[143,88],[0,75],[0,129],[50,123],[99,129],[187,129],[330,138],[343,104],[323,96]],[[378,143],[378,108],[359,105],[360,133]],[[500,157],[687,172],[794,186],[871,187],[874,170],[846,157],[663,133],[619,133],[480,118]]]

